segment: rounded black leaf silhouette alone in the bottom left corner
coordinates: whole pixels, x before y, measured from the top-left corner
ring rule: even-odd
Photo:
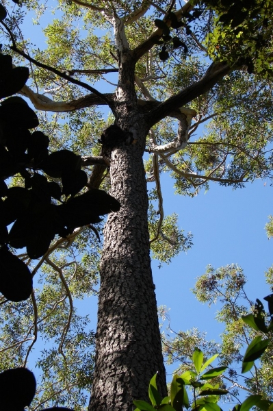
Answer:
[[[0,374],[1,410],[23,411],[34,399],[36,380],[25,368],[3,371]]]

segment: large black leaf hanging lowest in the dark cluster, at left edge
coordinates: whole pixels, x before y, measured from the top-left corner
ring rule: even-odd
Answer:
[[[0,249],[0,292],[10,301],[24,301],[32,290],[32,277],[26,264],[8,249]]]

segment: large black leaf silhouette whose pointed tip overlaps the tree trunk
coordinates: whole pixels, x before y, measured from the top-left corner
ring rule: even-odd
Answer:
[[[120,210],[120,203],[103,190],[91,189],[58,206],[60,218],[66,227],[80,227],[99,223],[99,216]]]

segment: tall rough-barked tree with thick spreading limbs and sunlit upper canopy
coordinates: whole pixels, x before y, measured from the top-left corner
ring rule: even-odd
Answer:
[[[90,410],[131,410],[155,372],[166,395],[149,252],[169,262],[191,238],[164,216],[160,174],[190,196],[209,182],[239,188],[272,177],[272,3],[247,3],[27,1],[1,23],[3,51],[31,68],[20,93],[45,113],[51,147],[81,154],[87,187],[109,188],[121,204],[104,227]],[[24,36],[29,16],[49,22],[47,47]],[[81,275],[73,281],[77,290]]]

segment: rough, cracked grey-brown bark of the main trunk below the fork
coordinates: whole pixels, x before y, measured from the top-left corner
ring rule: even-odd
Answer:
[[[122,208],[105,225],[92,411],[133,410],[133,399],[147,399],[148,382],[157,371],[158,386],[166,395],[149,256],[141,147],[146,133],[140,128],[142,138],[135,145],[111,153],[111,193]],[[135,127],[131,131],[135,136]]]

